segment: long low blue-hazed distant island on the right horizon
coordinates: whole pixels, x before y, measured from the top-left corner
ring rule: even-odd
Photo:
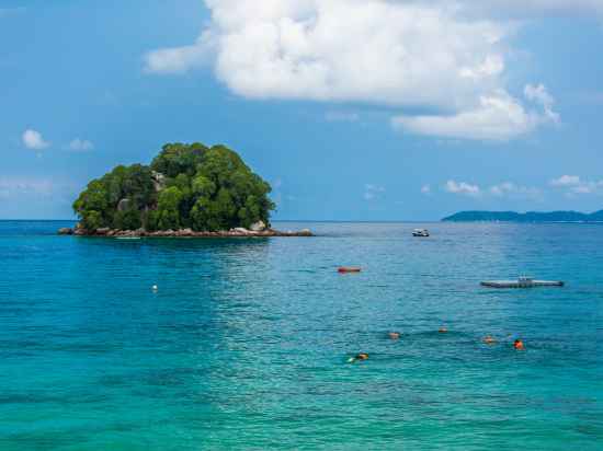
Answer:
[[[603,222],[603,210],[593,213],[579,211],[460,211],[448,216],[442,221],[446,222]]]

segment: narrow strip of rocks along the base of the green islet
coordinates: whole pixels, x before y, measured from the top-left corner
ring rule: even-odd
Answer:
[[[192,229],[180,230],[158,230],[149,232],[145,229],[138,230],[117,230],[102,228],[96,230],[86,230],[79,227],[75,229],[61,228],[58,230],[59,235],[76,235],[76,236],[101,236],[101,238],[254,238],[254,236],[314,236],[309,229],[299,231],[280,231],[274,229],[248,230],[236,228],[230,230],[221,230],[217,232],[196,232]]]

